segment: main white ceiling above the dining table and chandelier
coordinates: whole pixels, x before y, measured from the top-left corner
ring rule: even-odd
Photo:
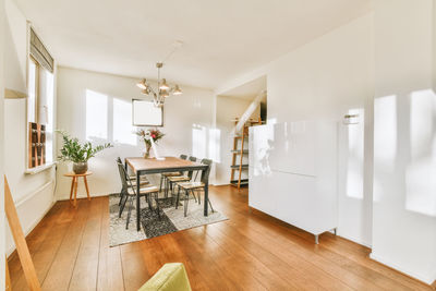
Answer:
[[[15,0],[61,65],[216,88],[371,10],[371,0]]]

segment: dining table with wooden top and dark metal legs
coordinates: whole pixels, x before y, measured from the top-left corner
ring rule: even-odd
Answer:
[[[202,171],[202,180],[209,166],[184,160],[175,157],[165,157],[165,159],[132,157],[125,158],[125,167],[130,167],[136,174],[136,181],[141,181],[141,175],[166,172]],[[136,193],[140,193],[141,183],[136,183]],[[204,216],[208,216],[209,181],[204,185]],[[141,207],[140,195],[136,195],[136,229],[141,230]]]

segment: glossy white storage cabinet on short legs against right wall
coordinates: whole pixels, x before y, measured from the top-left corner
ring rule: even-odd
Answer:
[[[315,235],[336,230],[337,122],[250,129],[249,205]]]

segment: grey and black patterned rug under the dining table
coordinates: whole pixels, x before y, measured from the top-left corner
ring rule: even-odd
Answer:
[[[136,201],[131,209],[131,217],[129,229],[125,229],[125,223],[128,219],[128,213],[130,203],[125,204],[124,211],[120,217],[119,214],[119,203],[120,198],[118,194],[109,195],[109,243],[110,246],[116,246],[120,244],[125,244],[135,241],[142,241],[146,239],[152,239],[159,235],[165,235],[171,232],[201,227],[205,225],[210,225],[219,221],[227,220],[228,218],[217,211],[210,210],[209,216],[203,216],[203,201],[198,205],[193,198],[189,201],[187,216],[184,217],[184,206],[183,202],[180,202],[178,209],[173,205],[172,198],[159,198],[160,206],[160,219],[153,208],[149,209],[148,204],[145,198],[141,198],[141,231],[136,231]]]

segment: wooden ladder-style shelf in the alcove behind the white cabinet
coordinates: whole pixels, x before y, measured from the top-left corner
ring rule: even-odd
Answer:
[[[234,124],[238,124],[239,119],[234,119]],[[245,143],[249,141],[249,128],[253,125],[261,125],[262,119],[253,120],[250,119],[244,123],[244,126],[241,133],[235,133],[233,136],[233,149],[232,153],[232,162],[230,166],[231,175],[230,175],[230,184],[241,189],[242,185],[249,184],[249,179],[242,179],[242,171],[249,169],[249,163],[243,163],[244,155],[249,155],[249,149],[244,148]],[[240,142],[241,141],[241,142]],[[238,162],[238,163],[237,163]],[[237,175],[237,178],[235,178]]]

